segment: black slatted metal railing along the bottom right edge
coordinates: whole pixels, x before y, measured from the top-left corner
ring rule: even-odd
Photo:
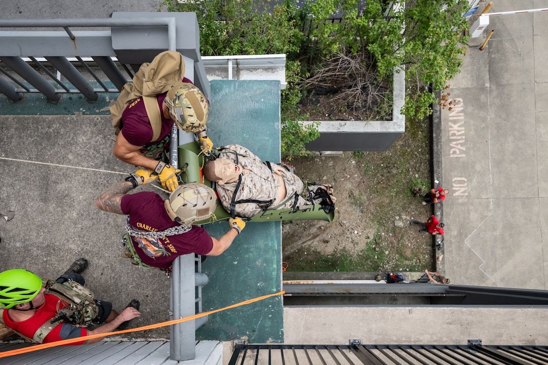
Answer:
[[[548,346],[466,345],[242,345],[229,365],[246,364],[370,365],[533,365],[548,363]]]

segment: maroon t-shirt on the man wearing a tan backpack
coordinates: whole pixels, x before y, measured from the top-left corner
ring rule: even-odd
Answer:
[[[186,77],[182,79],[182,82],[192,83]],[[162,110],[162,104],[166,94],[167,93],[160,94],[156,97],[160,110]],[[162,117],[162,129],[160,130],[158,139],[151,142],[152,127],[150,125],[149,115],[146,113],[145,104],[142,102],[142,98],[133,100],[122,113],[122,135],[134,146],[156,144],[164,139],[165,136],[169,135],[173,126],[173,121],[170,118],[165,118],[162,112],[160,115]]]

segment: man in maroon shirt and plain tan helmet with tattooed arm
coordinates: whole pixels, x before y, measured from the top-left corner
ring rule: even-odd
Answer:
[[[202,184],[180,185],[164,199],[155,192],[127,194],[141,184],[157,179],[139,169],[95,199],[95,205],[106,212],[129,215],[127,248],[136,263],[169,269],[180,255],[196,253],[217,256],[230,247],[246,224],[240,218],[230,219],[231,229],[216,239],[193,221],[209,218],[216,205],[215,192]]]

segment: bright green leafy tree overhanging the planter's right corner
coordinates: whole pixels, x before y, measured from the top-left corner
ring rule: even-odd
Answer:
[[[367,50],[380,78],[403,66],[416,77],[416,86],[402,112],[422,118],[435,101],[426,88],[442,89],[460,71],[468,39],[461,36],[468,26],[461,14],[469,5],[466,0],[394,0],[389,9],[386,3],[317,0],[311,5],[315,19],[345,15],[338,23],[318,21],[312,36],[327,57]]]

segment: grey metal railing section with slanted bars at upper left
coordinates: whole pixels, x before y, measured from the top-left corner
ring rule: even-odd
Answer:
[[[73,32],[70,27],[128,27],[128,26],[167,26],[168,29],[168,50],[176,50],[175,47],[175,19],[174,18],[132,18],[132,19],[19,19],[19,20],[0,20],[0,27],[18,28],[18,27],[61,27],[65,32],[37,32],[37,31],[2,31],[2,50],[0,51],[0,60],[13,72],[9,72],[5,67],[0,67],[0,72],[15,84],[19,85],[16,89],[5,79],[0,79],[0,92],[8,96],[13,101],[19,101],[22,98],[22,92],[42,93],[48,100],[56,102],[61,99],[63,93],[81,93],[89,101],[95,101],[99,98],[98,92],[119,92],[123,85],[128,81],[127,77],[120,70],[122,67],[129,79],[133,77],[129,68],[125,64],[115,64],[115,51],[111,42],[101,42],[100,39],[110,40],[109,31],[83,31]],[[65,34],[66,33],[66,34]],[[78,37],[77,37],[78,36]],[[49,44],[48,48],[33,47],[36,42]],[[105,44],[103,44],[105,43]],[[82,44],[82,47],[80,46]],[[92,47],[93,44],[93,47]],[[16,50],[14,50],[16,45]],[[62,45],[62,47],[59,47]],[[99,84],[94,87],[90,81],[82,75],[72,62],[64,56],[71,52],[73,58],[79,62]],[[110,49],[109,49],[110,48]],[[115,88],[109,88],[101,81],[96,72],[89,67],[89,61],[84,61],[83,52],[90,52],[89,60],[92,60],[102,72],[115,85]],[[18,53],[22,53],[18,56]],[[41,54],[37,54],[41,53]],[[96,55],[95,55],[96,54]],[[105,54],[110,54],[105,55]],[[31,67],[21,56],[27,56],[35,67]],[[38,56],[38,57],[37,57]],[[40,56],[44,56],[42,59]],[[49,64],[49,66],[47,65]],[[53,70],[52,70],[53,69]],[[56,71],[58,72],[55,75]],[[42,74],[40,73],[42,72]],[[53,71],[53,72],[52,72]],[[15,77],[14,73],[24,79],[27,83]],[[65,76],[67,82],[60,80],[60,74]],[[58,87],[52,85],[45,78],[48,76]]]

